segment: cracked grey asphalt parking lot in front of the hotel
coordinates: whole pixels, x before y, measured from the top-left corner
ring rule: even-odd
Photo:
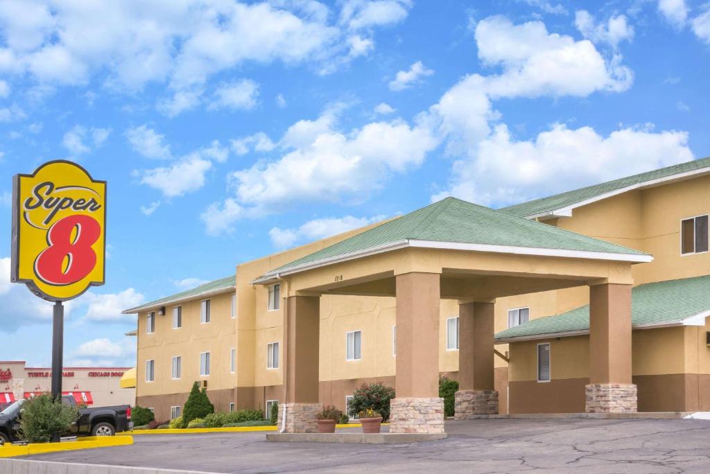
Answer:
[[[447,422],[444,441],[271,443],[263,433],[144,435],[133,446],[32,459],[208,473],[708,473],[710,421],[491,419]]]

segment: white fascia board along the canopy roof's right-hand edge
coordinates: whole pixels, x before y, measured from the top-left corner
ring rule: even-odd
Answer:
[[[653,260],[653,257],[651,255],[645,254],[590,252],[587,250],[562,250],[557,248],[499,246],[488,243],[420,241],[412,239],[409,241],[409,245],[411,247],[420,248],[442,248],[447,250],[469,250],[474,252],[514,253],[517,255],[542,255],[545,257],[587,258],[591,260],[615,260],[618,262],[647,263]]]

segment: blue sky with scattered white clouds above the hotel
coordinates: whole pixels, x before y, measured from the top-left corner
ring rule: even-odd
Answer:
[[[133,365],[121,309],[245,260],[710,155],[708,77],[704,1],[5,0],[0,359],[50,363],[50,307],[9,283],[11,176],[46,160],[109,182],[65,361]]]

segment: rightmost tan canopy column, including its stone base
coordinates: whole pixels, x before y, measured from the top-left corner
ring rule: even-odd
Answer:
[[[586,412],[637,411],[631,373],[631,285],[590,286]]]

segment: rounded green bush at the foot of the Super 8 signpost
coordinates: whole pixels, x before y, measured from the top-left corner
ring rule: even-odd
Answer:
[[[44,393],[22,404],[21,436],[30,443],[46,443],[55,433],[65,433],[77,421],[79,410]]]

